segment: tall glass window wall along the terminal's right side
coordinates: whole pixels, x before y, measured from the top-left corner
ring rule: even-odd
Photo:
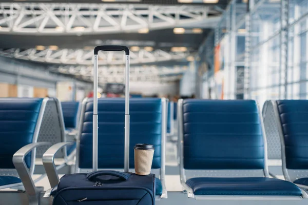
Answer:
[[[236,86],[232,85],[231,80],[237,76],[235,68],[243,66],[245,59],[249,60],[246,64],[249,68],[246,75],[249,94],[246,97],[257,99],[261,106],[266,99],[308,98],[308,0],[289,1],[288,24],[285,27],[288,46],[286,61],[281,56],[284,44],[281,38],[282,4],[282,1],[273,0],[254,1],[252,13],[246,13],[250,17],[248,28],[245,27],[244,1],[236,1],[225,11],[217,27],[218,35],[215,35],[215,42],[223,43],[224,49],[228,49],[224,52],[224,81],[228,86],[224,89],[224,98],[237,96],[237,90],[233,89]],[[233,31],[235,44],[232,43]],[[249,36],[249,54],[245,53],[246,32]]]

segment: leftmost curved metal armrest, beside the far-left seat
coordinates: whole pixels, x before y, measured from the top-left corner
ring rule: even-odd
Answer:
[[[27,195],[36,195],[36,188],[32,180],[31,174],[25,162],[26,155],[31,152],[33,149],[39,146],[50,145],[49,142],[35,142],[29,145],[26,145],[19,149],[13,155],[13,163],[16,168],[18,175],[20,176]]]

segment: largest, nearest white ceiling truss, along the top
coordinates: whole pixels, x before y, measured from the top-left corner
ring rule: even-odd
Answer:
[[[103,34],[175,28],[211,20],[206,6],[0,3],[0,33]]]

